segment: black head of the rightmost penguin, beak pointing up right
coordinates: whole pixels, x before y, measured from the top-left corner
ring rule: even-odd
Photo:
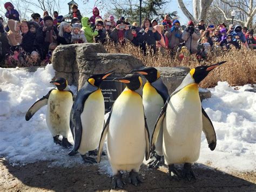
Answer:
[[[208,73],[211,72],[212,69],[220,66],[221,64],[225,63],[227,61],[221,61],[219,63],[216,63],[214,65],[210,66],[198,66],[196,68],[193,68],[190,70],[190,74],[194,79],[194,82],[200,83],[205,77],[208,75]]]

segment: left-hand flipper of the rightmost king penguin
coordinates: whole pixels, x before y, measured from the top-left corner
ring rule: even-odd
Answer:
[[[165,105],[163,106],[163,108],[157,118],[157,122],[154,125],[154,131],[153,131],[152,138],[151,138],[151,152],[153,152],[156,149],[158,134],[163,125],[163,120],[164,120],[164,117],[166,114],[166,108],[167,108],[167,105],[169,104],[170,98],[171,97],[167,98]]]

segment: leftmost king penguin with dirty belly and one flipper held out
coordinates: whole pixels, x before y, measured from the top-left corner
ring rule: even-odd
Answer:
[[[26,120],[31,119],[42,106],[47,105],[46,124],[52,134],[53,141],[68,148],[72,146],[68,141],[68,133],[73,93],[68,87],[68,81],[64,78],[57,78],[50,83],[55,84],[57,89],[51,89],[47,95],[34,103],[26,112],[25,118]],[[58,139],[59,135],[63,136],[62,141]]]

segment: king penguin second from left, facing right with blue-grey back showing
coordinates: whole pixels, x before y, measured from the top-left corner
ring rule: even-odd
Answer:
[[[97,163],[94,158],[87,157],[86,152],[93,154],[93,150],[99,144],[105,114],[104,97],[100,85],[112,73],[113,71],[110,71],[89,77],[78,91],[71,109],[70,129],[75,146],[69,155],[75,155],[78,151],[85,163]]]

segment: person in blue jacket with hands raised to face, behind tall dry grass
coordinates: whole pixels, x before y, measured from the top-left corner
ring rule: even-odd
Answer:
[[[177,51],[177,48],[180,46],[180,42],[183,42],[183,40],[181,39],[181,34],[182,32],[179,20],[174,20],[171,30],[165,33],[165,36],[169,41],[168,48],[170,48],[172,51],[173,49]]]

